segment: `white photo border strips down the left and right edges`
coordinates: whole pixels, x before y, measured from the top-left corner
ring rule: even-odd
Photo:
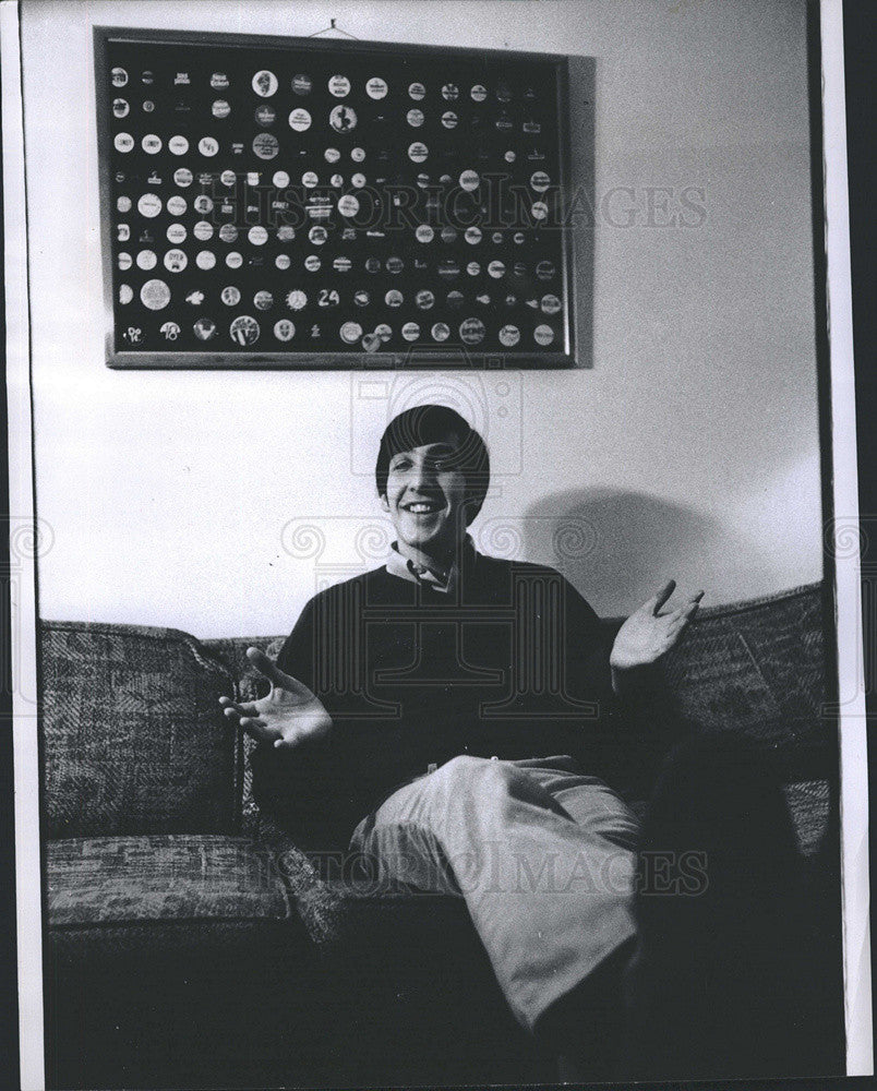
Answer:
[[[820,0],[830,412],[834,528],[858,519],[842,0]],[[45,1088],[43,890],[28,324],[27,226],[22,116],[20,10],[0,0],[5,236],[7,387],[9,412],[15,884],[21,1087]],[[29,544],[27,544],[29,542]],[[15,549],[14,556],[12,550]],[[868,889],[868,783],[861,565],[857,551],[836,551],[841,867],[846,1074],[874,1074]]]

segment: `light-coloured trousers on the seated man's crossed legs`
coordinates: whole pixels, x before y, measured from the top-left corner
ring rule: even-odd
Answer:
[[[353,832],[380,878],[461,896],[515,1017],[539,1017],[635,932],[638,823],[568,756],[464,755]]]

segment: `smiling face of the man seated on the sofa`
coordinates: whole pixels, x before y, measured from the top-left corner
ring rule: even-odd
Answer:
[[[459,437],[403,451],[389,459],[387,491],[381,497],[399,539],[428,556],[446,556],[466,530],[466,476],[455,463]]]

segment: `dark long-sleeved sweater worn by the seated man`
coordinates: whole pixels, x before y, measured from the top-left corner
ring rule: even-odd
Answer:
[[[593,610],[545,566],[466,550],[455,592],[384,567],[337,584],[305,606],[277,659],[333,730],[295,751],[257,747],[255,798],[302,841],[310,816],[325,841],[458,754],[572,754],[600,772],[615,717],[610,648]]]

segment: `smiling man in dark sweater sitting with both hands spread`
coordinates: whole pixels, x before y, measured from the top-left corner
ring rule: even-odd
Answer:
[[[223,703],[259,740],[262,810],[305,848],[349,839],[382,876],[465,898],[518,1021],[596,1078],[638,835],[598,774],[700,595],[663,610],[666,584],[613,640],[553,568],[476,550],[489,480],[454,410],[396,417],[375,466],[386,563],[311,599],[276,663],[249,649],[267,696]]]

